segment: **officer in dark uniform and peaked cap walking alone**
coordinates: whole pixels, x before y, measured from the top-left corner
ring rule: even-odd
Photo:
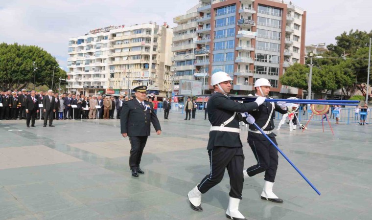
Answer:
[[[140,161],[143,149],[146,145],[147,136],[150,135],[150,124],[152,123],[156,133],[162,133],[158,117],[156,116],[152,103],[145,101],[146,86],[139,86],[133,89],[136,98],[123,103],[120,114],[121,135],[129,136],[131,151],[129,156],[132,176],[144,174],[140,169]]]

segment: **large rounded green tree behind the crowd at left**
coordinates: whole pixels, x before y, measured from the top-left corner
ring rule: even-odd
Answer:
[[[26,88],[34,82],[34,77],[35,86],[50,87],[53,67],[57,66],[56,59],[38,46],[0,44],[0,88],[3,90]],[[55,68],[54,79],[60,77],[66,78],[66,72]]]

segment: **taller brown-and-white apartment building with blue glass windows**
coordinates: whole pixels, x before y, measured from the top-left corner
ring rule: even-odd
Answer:
[[[279,77],[293,63],[304,63],[306,11],[281,0],[199,0],[173,19],[174,76],[203,80],[225,71],[233,78],[232,94],[253,93],[257,78],[267,78],[271,96],[301,96],[282,86]],[[207,92],[207,93],[208,93]]]

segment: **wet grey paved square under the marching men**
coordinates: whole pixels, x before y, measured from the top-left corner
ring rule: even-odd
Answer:
[[[138,178],[129,171],[130,145],[119,120],[59,120],[54,128],[1,121],[0,220],[226,219],[227,173],[203,195],[203,212],[186,199],[209,174],[209,121],[201,113],[191,121],[180,112],[169,120],[162,114],[163,132],[152,129]],[[279,155],[274,189],[284,203],[261,200],[263,175],[256,175],[244,182],[241,213],[249,220],[372,219],[371,126],[332,124],[334,136],[319,121],[308,128],[289,132],[284,124],[275,132],[279,147],[322,195]],[[247,133],[242,127],[245,167],[256,163]]]

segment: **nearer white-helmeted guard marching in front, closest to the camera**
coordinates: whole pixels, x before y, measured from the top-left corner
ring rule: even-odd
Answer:
[[[242,199],[244,177],[241,170],[244,166],[244,154],[240,141],[239,113],[256,110],[265,97],[258,97],[255,102],[238,103],[228,97],[231,90],[231,77],[226,72],[216,72],[212,75],[211,85],[213,95],[208,100],[208,118],[211,124],[209,130],[208,154],[210,173],[196,185],[187,197],[191,209],[203,211],[201,207],[202,194],[221,182],[225,169],[230,176],[231,190],[226,217],[229,219],[245,219],[239,212]]]

